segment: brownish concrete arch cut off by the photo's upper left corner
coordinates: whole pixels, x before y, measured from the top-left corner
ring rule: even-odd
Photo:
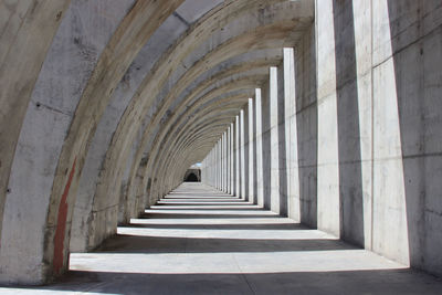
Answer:
[[[38,75],[69,4],[70,0],[0,3],[0,240],[20,130]]]

